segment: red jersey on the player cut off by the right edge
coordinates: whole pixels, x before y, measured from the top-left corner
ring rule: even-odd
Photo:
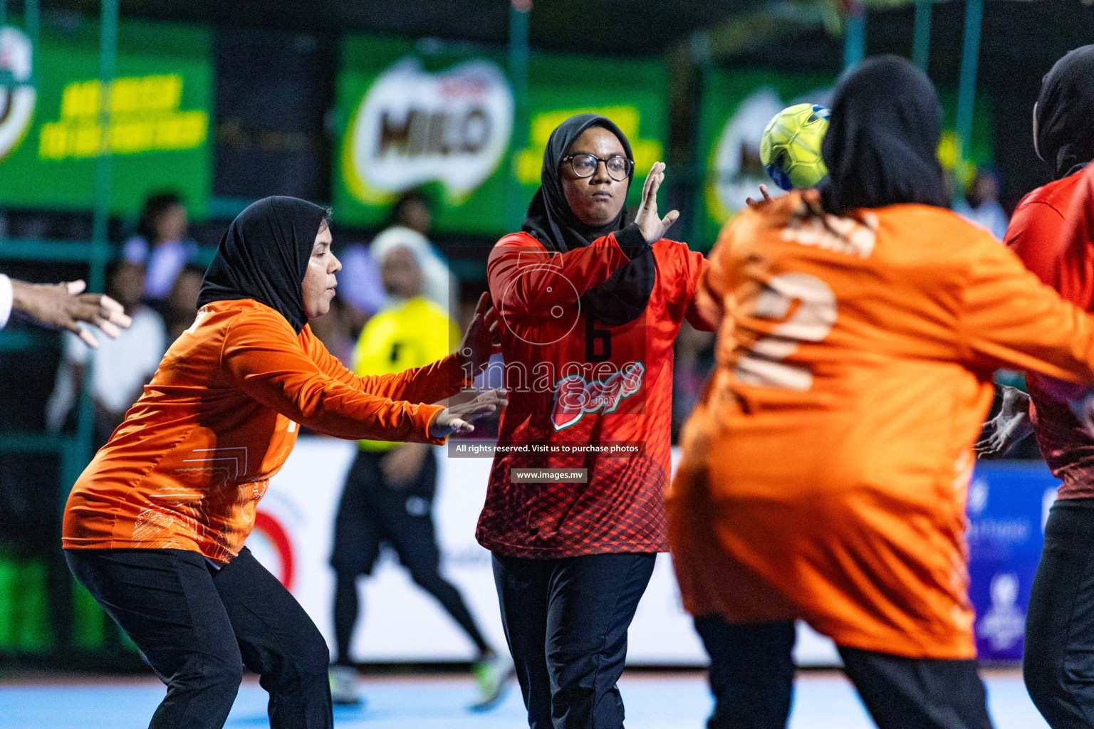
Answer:
[[[1092,200],[1090,173],[1069,175],[1024,197],[1005,238],[1043,283],[1087,311],[1094,310],[1094,239],[1092,231],[1082,230],[1075,205]],[[1059,497],[1094,496],[1094,438],[1067,402],[1075,386],[1032,374],[1026,383],[1037,445],[1052,475],[1063,482]]]

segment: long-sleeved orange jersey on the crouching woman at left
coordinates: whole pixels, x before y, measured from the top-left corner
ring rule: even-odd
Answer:
[[[456,355],[358,377],[311,328],[298,336],[264,304],[209,304],[77,481],[63,546],[182,549],[226,562],[301,424],[342,438],[440,444],[429,423],[443,408],[414,403],[464,384]]]

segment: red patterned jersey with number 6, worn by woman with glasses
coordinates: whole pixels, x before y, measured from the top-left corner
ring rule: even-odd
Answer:
[[[666,551],[673,342],[685,317],[710,326],[693,304],[702,255],[668,239],[652,248],[649,305],[621,326],[581,304],[628,260],[615,234],[552,254],[517,233],[491,251],[509,405],[476,531],[487,549],[542,558]],[[587,483],[528,482],[513,469],[584,470]]]

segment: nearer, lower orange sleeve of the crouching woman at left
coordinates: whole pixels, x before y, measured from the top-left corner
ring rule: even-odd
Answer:
[[[444,443],[429,435],[430,422],[444,408],[394,401],[331,377],[276,314],[238,316],[224,336],[221,366],[240,390],[313,431],[340,438]]]

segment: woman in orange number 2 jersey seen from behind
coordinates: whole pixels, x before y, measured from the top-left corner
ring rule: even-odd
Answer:
[[[742,213],[701,291],[718,366],[668,495],[710,727],[783,727],[795,619],[839,646],[880,727],[986,729],[965,545],[998,367],[1094,383],[1094,321],[945,210],[927,77],[841,80],[819,193]]]

